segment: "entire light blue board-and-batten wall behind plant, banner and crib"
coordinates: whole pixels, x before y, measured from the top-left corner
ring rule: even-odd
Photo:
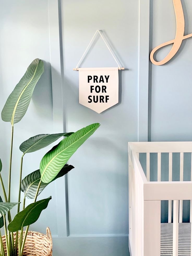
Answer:
[[[149,50],[173,39],[176,29],[172,1],[150,1],[150,26],[148,3],[149,0],[146,0],[146,5],[126,0],[60,0],[59,12],[57,0],[9,0],[1,3],[0,109],[28,64],[36,57],[45,62],[45,73],[35,88],[27,114],[15,125],[12,190],[17,190],[14,181],[19,179],[21,153],[18,148],[21,142],[35,134],[54,132],[54,102],[57,98],[53,97],[52,103],[52,91],[58,92],[59,78],[62,78],[63,94],[55,95],[58,101],[63,99],[64,115],[60,122],[63,122],[64,130],[76,131],[90,123],[101,123],[97,132],[71,157],[69,163],[75,169],[61,179],[59,189],[56,189],[56,183],[52,183],[40,195],[41,198],[52,195],[52,200],[46,213],[31,228],[45,232],[46,226],[50,226],[54,236],[54,256],[128,256],[128,141],[137,141],[138,137],[147,135],[152,141],[192,140],[191,39],[183,42],[177,55],[164,66],[154,66],[149,62],[149,76],[142,76],[142,70],[148,67]],[[192,3],[185,0],[182,4],[185,32],[188,34],[192,31]],[[55,16],[52,15],[54,7]],[[58,19],[60,40],[53,33],[54,28],[58,28]],[[119,104],[101,114],[78,103],[78,72],[73,71],[97,29],[102,30],[121,66],[126,68],[119,72]],[[148,37],[145,38],[148,31],[149,41]],[[56,51],[59,43],[61,70],[53,65],[51,70],[50,63],[55,63],[57,58],[60,65]],[[162,59],[169,49],[162,49],[157,57]],[[115,65],[105,44],[97,36],[81,67]],[[148,84],[148,79],[149,98],[147,86],[142,87]],[[147,134],[144,123],[142,130],[142,122],[146,121],[147,115],[141,114],[145,113],[142,106],[147,105],[148,100]],[[143,103],[139,116],[138,102]],[[139,123],[140,134],[138,120],[142,120]],[[0,123],[3,134],[0,157],[5,178],[10,124],[1,120]],[[39,168],[39,162],[48,149],[25,157],[23,176]],[[166,170],[167,156],[164,155],[163,159],[162,166]],[[190,178],[189,156],[186,155],[185,159],[184,178],[187,180]],[[155,162],[152,164],[151,177],[155,180],[157,168]],[[175,166],[174,170],[173,177],[177,179],[178,168]],[[167,178],[165,173],[163,178]],[[12,200],[17,201],[16,193],[12,193]],[[67,218],[63,210],[59,211],[60,208],[65,209]],[[162,219],[166,220],[166,203],[163,209]],[[186,220],[187,211],[188,204],[184,203]],[[61,235],[63,227],[63,234],[68,234],[68,237]]]

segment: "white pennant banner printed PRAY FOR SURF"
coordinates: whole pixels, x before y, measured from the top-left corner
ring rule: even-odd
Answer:
[[[97,113],[119,101],[117,68],[79,68],[79,103]]]

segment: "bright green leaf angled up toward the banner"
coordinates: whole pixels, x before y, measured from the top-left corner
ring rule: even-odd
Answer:
[[[59,173],[75,151],[91,136],[100,126],[99,123],[91,124],[63,139],[45,154],[40,163],[41,181],[49,183]]]

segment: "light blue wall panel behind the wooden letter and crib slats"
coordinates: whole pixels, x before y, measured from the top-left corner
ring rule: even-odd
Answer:
[[[175,38],[176,22],[172,1],[150,1],[150,51]],[[192,2],[182,1],[185,17],[185,35],[192,31]],[[171,46],[159,50],[157,59],[163,59]],[[178,53],[163,66],[149,62],[149,133],[151,141],[191,141],[191,68],[192,40],[184,40]],[[167,154],[168,155],[168,154]],[[162,177],[168,180],[168,159],[162,159]],[[184,180],[190,180],[191,159],[184,154]],[[151,170],[152,180],[157,180],[157,161]],[[154,174],[154,175],[153,175]],[[179,180],[179,154],[173,154],[173,180]],[[162,221],[167,221],[167,202],[162,205]],[[183,202],[183,221],[189,222],[189,201]]]

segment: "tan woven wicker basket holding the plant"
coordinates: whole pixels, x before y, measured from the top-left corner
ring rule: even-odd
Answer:
[[[25,231],[23,231],[25,234]],[[23,235],[24,235],[23,234]],[[20,235],[20,232],[19,232]],[[14,232],[14,240],[16,232]],[[7,255],[5,236],[2,236],[5,255]],[[23,256],[52,256],[52,236],[49,228],[46,230],[46,235],[35,231],[28,231],[23,250]]]

